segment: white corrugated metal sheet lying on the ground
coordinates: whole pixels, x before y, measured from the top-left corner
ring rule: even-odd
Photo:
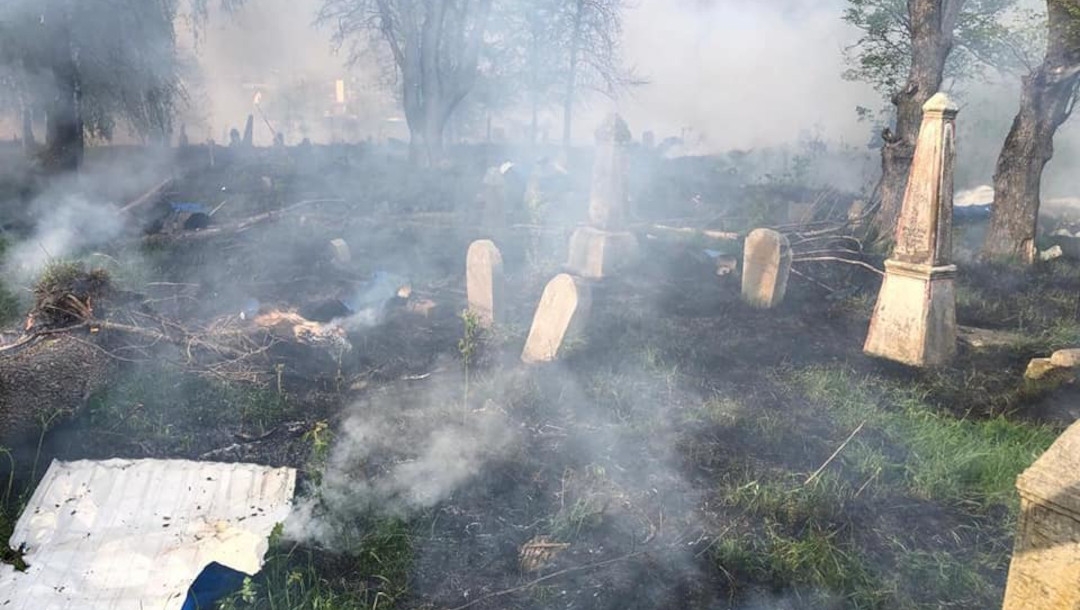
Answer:
[[[0,566],[3,610],[178,610],[210,562],[247,574],[292,509],[296,471],[181,460],[54,461]]]

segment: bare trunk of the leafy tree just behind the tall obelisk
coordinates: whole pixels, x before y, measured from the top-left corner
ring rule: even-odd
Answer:
[[[895,131],[882,133],[880,206],[874,227],[887,242],[894,239],[904,203],[907,176],[915,158],[915,143],[922,123],[922,105],[941,89],[945,60],[953,51],[953,31],[964,0],[909,0],[912,67],[907,84],[892,96],[896,107]]]

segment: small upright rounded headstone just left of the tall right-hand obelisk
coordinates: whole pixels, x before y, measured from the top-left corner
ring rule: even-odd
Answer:
[[[787,238],[772,229],[755,229],[743,247],[742,296],[747,303],[771,309],[784,300],[792,271]]]

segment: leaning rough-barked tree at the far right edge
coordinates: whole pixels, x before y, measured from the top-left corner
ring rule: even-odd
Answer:
[[[1045,58],[1022,80],[1020,111],[994,173],[987,258],[1035,261],[1042,171],[1080,84],[1080,1],[1047,0],[1047,33]]]

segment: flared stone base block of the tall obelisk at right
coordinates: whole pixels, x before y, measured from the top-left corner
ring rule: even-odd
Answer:
[[[912,366],[944,364],[956,354],[956,266],[885,262],[863,351]]]

